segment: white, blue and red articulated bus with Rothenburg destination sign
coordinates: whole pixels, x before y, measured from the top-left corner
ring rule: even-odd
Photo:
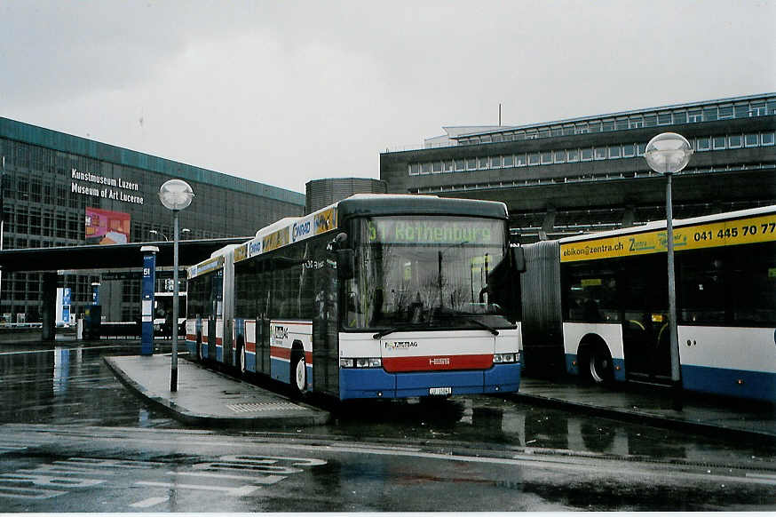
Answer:
[[[188,271],[202,362],[340,400],[514,392],[520,248],[503,203],[353,195]]]

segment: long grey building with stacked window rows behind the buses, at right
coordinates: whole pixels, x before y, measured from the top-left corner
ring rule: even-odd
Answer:
[[[673,181],[676,218],[776,203],[776,93],[444,129],[380,155],[388,192],[503,201],[516,241],[665,219],[665,179],[643,156],[664,131],[695,151]]]

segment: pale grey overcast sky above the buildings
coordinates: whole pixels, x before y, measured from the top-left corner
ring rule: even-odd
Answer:
[[[776,91],[776,0],[0,0],[0,116],[305,192],[442,126]]]

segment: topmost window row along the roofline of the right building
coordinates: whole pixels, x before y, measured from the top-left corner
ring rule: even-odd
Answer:
[[[618,115],[582,120],[574,123],[569,122],[538,126],[524,130],[498,131],[490,134],[461,137],[457,140],[459,145],[466,146],[765,115],[776,115],[776,99],[753,99],[740,102],[724,102],[708,106]]]

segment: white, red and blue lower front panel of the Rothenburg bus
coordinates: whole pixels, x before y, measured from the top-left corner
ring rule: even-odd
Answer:
[[[340,396],[406,398],[518,391],[519,326],[340,334]]]

